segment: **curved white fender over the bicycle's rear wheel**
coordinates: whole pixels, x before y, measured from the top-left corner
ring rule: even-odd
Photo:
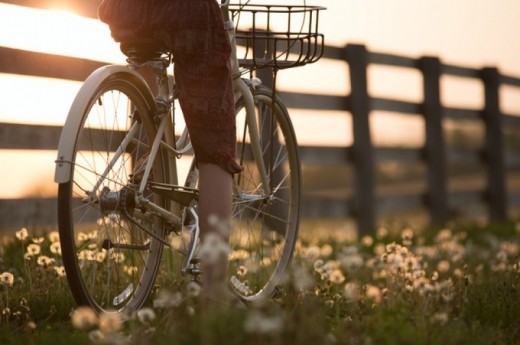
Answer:
[[[71,164],[74,155],[74,141],[82,124],[83,112],[91,101],[90,97],[92,97],[96,88],[105,79],[116,73],[130,74],[137,78],[142,82],[142,86],[148,89],[148,94],[151,95],[151,92],[141,75],[126,66],[103,66],[92,72],[76,95],[61,132],[60,142],[58,145],[58,158],[56,159],[56,169],[54,171],[54,181],[56,183],[66,183],[70,181]],[[153,101],[153,98],[151,101]]]

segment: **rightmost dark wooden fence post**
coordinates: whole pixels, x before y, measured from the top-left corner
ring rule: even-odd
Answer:
[[[485,124],[484,157],[487,166],[486,199],[489,204],[489,217],[494,221],[507,219],[507,201],[505,188],[505,163],[502,138],[502,113],[500,112],[499,87],[500,73],[495,67],[482,69],[484,82]]]

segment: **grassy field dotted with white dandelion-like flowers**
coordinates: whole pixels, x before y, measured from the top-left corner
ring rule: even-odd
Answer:
[[[272,302],[204,310],[163,272],[164,295],[125,320],[75,309],[57,233],[20,229],[0,247],[0,344],[517,344],[520,227],[302,225]],[[31,231],[29,231],[31,233]],[[168,253],[166,253],[168,255]]]

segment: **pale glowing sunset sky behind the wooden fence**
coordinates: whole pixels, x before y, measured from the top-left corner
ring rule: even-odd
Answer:
[[[303,0],[278,3],[289,2],[303,3]],[[439,56],[446,63],[478,68],[497,66],[502,73],[520,76],[518,0],[309,0],[308,3],[328,8],[320,21],[327,44],[363,43],[374,51],[410,57]],[[106,26],[71,13],[0,4],[0,32],[0,46],[124,63]],[[344,63],[322,60],[281,72],[280,87],[344,95],[348,92],[347,77]],[[370,78],[370,90],[374,94],[414,101],[422,98],[418,91],[421,79],[416,72],[373,68]],[[9,91],[9,97],[3,97],[0,102],[0,122],[60,125],[79,86],[75,82],[0,74],[1,90],[4,94]],[[481,91],[477,82],[443,81],[443,100],[447,103],[478,107],[482,102]],[[506,91],[502,96],[503,107],[508,112],[520,113],[520,90]],[[31,102],[27,102],[28,95]],[[26,106],[20,107],[20,104]],[[301,142],[350,143],[351,139],[345,134],[349,132],[350,122],[344,113],[320,115],[318,122],[314,112],[298,112],[297,117],[296,130]],[[392,128],[395,120],[389,116],[382,119],[380,125]],[[407,133],[416,133],[416,138],[408,139],[414,145],[420,144],[420,121],[411,120],[399,127]],[[380,142],[392,143],[392,138],[400,140],[403,136],[402,131],[383,133],[375,128],[374,132],[375,140]],[[49,152],[30,158],[31,169],[4,172],[0,176],[3,181],[0,197],[48,189],[28,185],[27,181],[34,176],[52,180],[54,155]],[[20,157],[19,153],[0,152],[2,161],[14,156]],[[27,157],[34,156],[28,154]]]

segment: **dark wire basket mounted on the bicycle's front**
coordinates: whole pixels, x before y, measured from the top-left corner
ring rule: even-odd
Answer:
[[[316,62],[323,55],[318,6],[229,6],[236,24],[238,61],[247,69],[284,69]]]

